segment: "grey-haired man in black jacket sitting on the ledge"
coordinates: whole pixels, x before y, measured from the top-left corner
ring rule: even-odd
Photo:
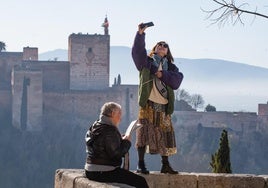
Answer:
[[[123,183],[134,187],[149,187],[145,178],[121,168],[122,157],[131,147],[130,136],[121,136],[121,106],[105,103],[99,119],[86,133],[87,159],[85,174],[90,180]]]

